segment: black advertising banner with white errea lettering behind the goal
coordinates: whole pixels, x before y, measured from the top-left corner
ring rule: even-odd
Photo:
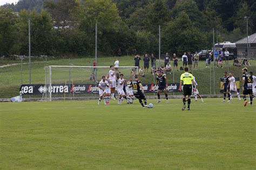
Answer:
[[[158,85],[155,84],[143,84],[145,93],[153,93],[158,90]],[[168,92],[178,92],[179,83],[170,83],[166,87]],[[52,94],[97,94],[98,85],[95,84],[52,84],[49,88],[44,84],[22,84],[19,88],[21,95],[42,95],[44,93]]]

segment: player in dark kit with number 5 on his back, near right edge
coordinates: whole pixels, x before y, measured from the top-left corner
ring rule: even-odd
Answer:
[[[250,104],[252,106],[252,83],[253,77],[251,73],[247,73],[247,68],[242,69],[242,94],[244,95],[244,107],[248,103],[246,100],[246,96],[250,96]]]

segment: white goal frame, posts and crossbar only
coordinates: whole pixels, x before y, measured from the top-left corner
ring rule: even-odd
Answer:
[[[52,101],[52,68],[110,68],[110,66],[55,66],[55,65],[50,65],[50,66],[45,66],[45,84],[47,82],[46,77],[49,76],[49,101]],[[115,67],[114,67],[115,68]],[[138,66],[119,66],[119,68],[135,68],[134,70],[136,74],[139,74],[139,67]],[[47,75],[46,69],[49,70],[49,75]],[[96,79],[97,79],[97,72],[96,72]]]

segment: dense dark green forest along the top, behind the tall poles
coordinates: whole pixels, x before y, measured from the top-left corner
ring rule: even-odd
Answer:
[[[256,32],[252,0],[19,0],[0,7],[0,55],[161,54],[211,49]]]

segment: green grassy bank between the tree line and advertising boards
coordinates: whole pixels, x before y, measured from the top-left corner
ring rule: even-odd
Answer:
[[[91,66],[93,58],[78,58],[72,59],[71,63],[73,65],[78,66]],[[110,66],[113,64],[116,57],[105,57],[98,59],[98,66]],[[119,58],[120,66],[133,66],[133,57],[132,56],[123,56]],[[13,61],[12,61],[13,62]],[[27,62],[26,60],[24,62]],[[232,62],[232,61],[231,61]],[[252,62],[252,67],[250,70],[256,73],[256,62]],[[0,64],[6,63],[5,60],[0,60]],[[157,62],[158,63],[158,62]],[[48,60],[47,63],[42,61],[42,59],[34,59],[32,63],[32,70],[31,70],[31,79],[32,83],[44,83],[44,66],[46,65],[69,65],[69,59],[55,59],[55,60]],[[181,65],[181,61],[179,62],[179,66]],[[240,67],[233,67],[230,63],[230,71],[234,73],[234,76],[241,77],[241,68]],[[143,66],[143,62],[141,61],[140,66]],[[29,65],[23,65],[23,84],[29,83]],[[224,69],[216,69],[215,74],[215,91],[219,94],[219,79],[223,76],[223,72],[226,70],[226,66]],[[175,71],[175,82],[179,82],[179,76],[181,72]],[[205,62],[201,61],[198,70],[193,71],[194,76],[196,76],[196,80],[199,83],[199,90],[201,94],[210,94],[210,69],[205,68]],[[212,70],[213,76],[213,70]],[[11,66],[0,68],[0,97],[1,98],[8,98],[12,96],[18,95],[19,86],[21,85],[21,65]],[[173,82],[173,77],[168,75],[169,82]],[[152,83],[153,76],[149,73],[146,74],[145,78],[141,79],[142,82],[145,83]],[[213,88],[213,84],[212,84]],[[212,90],[213,94],[213,90]]]

